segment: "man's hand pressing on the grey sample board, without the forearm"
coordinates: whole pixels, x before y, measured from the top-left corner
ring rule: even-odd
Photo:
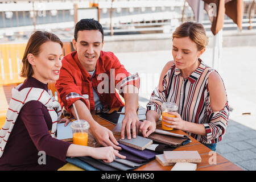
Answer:
[[[127,139],[131,139],[131,129],[133,131],[133,138],[136,138],[139,127],[139,118],[136,112],[128,111],[122,121],[121,139],[125,139],[125,130]]]

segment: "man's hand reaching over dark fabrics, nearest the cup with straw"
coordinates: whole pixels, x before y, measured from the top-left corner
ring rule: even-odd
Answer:
[[[121,147],[118,147],[118,142],[115,139],[112,131],[101,125],[95,125],[90,127],[90,132],[93,134],[98,143],[102,146],[112,146],[115,150],[121,150]]]

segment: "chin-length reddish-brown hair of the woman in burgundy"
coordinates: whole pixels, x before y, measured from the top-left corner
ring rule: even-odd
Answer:
[[[40,46],[42,46],[43,43],[46,43],[49,41],[59,43],[61,48],[63,47],[63,43],[57,37],[57,35],[52,34],[50,32],[36,31],[34,32],[34,34],[31,35],[30,39],[27,42],[27,46],[23,55],[23,59],[22,59],[23,66],[22,66],[22,71],[20,72],[20,76],[30,77],[33,75],[34,72],[31,67],[31,64],[27,60],[27,55],[29,53],[32,53],[32,55],[38,56],[40,53]]]

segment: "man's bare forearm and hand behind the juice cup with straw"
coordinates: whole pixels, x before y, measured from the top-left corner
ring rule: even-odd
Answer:
[[[76,106],[79,118],[88,121],[90,125],[89,130],[96,138],[98,143],[100,143],[102,146],[112,146],[116,150],[121,150],[121,147],[118,147],[118,142],[115,139],[112,131],[104,126],[101,126],[93,119],[92,114],[90,114],[90,111],[88,107],[84,104],[84,102],[82,102],[81,100],[77,100],[74,102],[74,104]],[[73,106],[71,107],[71,111],[73,115],[76,115]]]

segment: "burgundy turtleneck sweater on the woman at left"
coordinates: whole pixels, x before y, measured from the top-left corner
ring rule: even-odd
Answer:
[[[48,84],[28,77],[19,90],[34,87],[48,91]],[[71,143],[52,138],[49,130],[52,119],[47,107],[39,101],[27,102],[16,119],[5,151],[0,158],[0,170],[56,170],[65,164],[68,147]],[[46,164],[42,154],[46,152]]]

